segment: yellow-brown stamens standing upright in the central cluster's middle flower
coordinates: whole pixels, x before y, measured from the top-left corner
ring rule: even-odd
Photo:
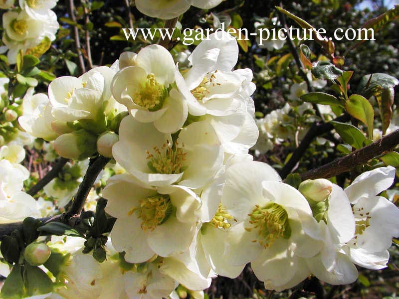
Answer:
[[[173,149],[172,145],[167,141],[162,148],[153,148],[153,152],[146,151],[148,167],[155,173],[177,174],[186,170],[187,166],[183,165],[186,160],[186,152],[182,148]]]

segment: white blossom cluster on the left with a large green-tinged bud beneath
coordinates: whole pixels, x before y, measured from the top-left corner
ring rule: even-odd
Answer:
[[[19,124],[36,138],[55,140],[54,149],[62,157],[89,157],[97,151],[100,135],[115,130],[113,120],[126,111],[111,94],[116,70],[101,66],[79,78],[56,78],[48,86],[48,96],[33,95],[33,89],[29,89],[23,98]]]

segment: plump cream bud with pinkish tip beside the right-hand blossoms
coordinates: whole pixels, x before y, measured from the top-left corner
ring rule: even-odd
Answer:
[[[306,197],[306,199],[319,202],[328,198],[332,187],[333,183],[328,179],[318,178],[315,180],[307,179],[303,181],[299,185],[298,190]]]

